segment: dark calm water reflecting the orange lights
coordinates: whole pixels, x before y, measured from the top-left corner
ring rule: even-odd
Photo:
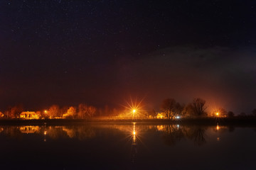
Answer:
[[[0,126],[0,169],[256,169],[256,128]]]

